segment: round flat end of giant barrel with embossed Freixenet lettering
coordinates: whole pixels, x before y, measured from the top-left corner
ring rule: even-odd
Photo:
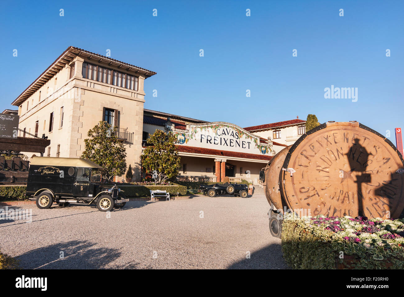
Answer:
[[[280,172],[280,192],[290,209],[387,219],[404,208],[400,152],[358,122],[328,122],[302,135],[283,168],[289,171]]]

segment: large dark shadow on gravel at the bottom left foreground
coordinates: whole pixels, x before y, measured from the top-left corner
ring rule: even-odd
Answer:
[[[28,251],[17,259],[23,269],[102,269],[121,255],[117,249],[95,246],[87,240],[72,240]]]

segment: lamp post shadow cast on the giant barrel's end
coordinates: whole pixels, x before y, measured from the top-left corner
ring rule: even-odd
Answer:
[[[348,174],[351,175],[351,177],[356,177],[355,182],[358,186],[358,214],[363,216],[364,209],[362,200],[364,200],[364,196],[362,194],[362,184],[371,182],[370,174],[365,172],[368,166],[369,155],[372,154],[367,152],[366,149],[360,145],[358,138],[355,138],[354,141],[355,143],[353,143],[346,154],[350,167]]]

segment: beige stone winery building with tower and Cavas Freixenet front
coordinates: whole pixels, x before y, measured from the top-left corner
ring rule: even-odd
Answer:
[[[272,156],[304,133],[305,121],[299,119],[241,128],[144,109],[144,82],[155,74],[69,46],[12,102],[18,107],[19,136],[48,137],[44,156],[79,158],[88,130],[107,121],[118,127],[126,162],[139,181],[145,177],[140,155],[147,137],[156,129],[172,131],[181,156],[180,180],[229,177],[257,183]]]

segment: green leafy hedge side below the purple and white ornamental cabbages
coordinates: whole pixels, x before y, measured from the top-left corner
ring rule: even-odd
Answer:
[[[336,233],[324,230],[324,227],[323,223],[317,225],[312,220],[284,219],[281,247],[283,257],[291,268],[404,268],[401,241],[372,239],[371,244],[355,242],[340,238]]]

